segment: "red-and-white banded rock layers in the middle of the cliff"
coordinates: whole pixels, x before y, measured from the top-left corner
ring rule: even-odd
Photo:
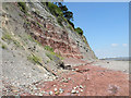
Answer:
[[[48,20],[45,20],[46,17],[36,13],[32,13],[32,16],[33,19],[27,19],[27,22],[31,23],[27,33],[32,33],[31,35],[43,46],[52,47],[56,53],[59,53],[64,58],[83,58],[75,41],[72,40],[72,38],[69,38],[68,30],[55,25]]]

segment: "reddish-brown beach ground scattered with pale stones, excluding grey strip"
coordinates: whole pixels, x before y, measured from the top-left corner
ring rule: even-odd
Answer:
[[[37,87],[49,96],[129,96],[129,75],[92,64],[74,68],[75,71],[61,74],[53,82],[39,82]],[[57,91],[55,89],[57,88]],[[59,89],[63,89],[60,93]],[[72,91],[72,89],[74,89]],[[71,93],[72,91],[72,93]],[[76,91],[76,93],[75,93]],[[22,96],[31,94],[22,94]]]

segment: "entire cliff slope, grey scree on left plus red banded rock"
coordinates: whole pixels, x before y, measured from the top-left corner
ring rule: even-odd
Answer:
[[[48,66],[57,73],[67,58],[95,59],[86,38],[78,35],[67,22],[59,25],[46,5],[27,2],[26,7],[27,12],[24,12],[16,2],[2,4],[0,45],[3,78],[20,84],[44,77],[49,79],[50,74],[44,68]],[[26,78],[26,82],[17,77],[23,81]]]

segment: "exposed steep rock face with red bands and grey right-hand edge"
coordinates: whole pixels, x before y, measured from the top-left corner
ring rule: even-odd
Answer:
[[[28,7],[31,8],[31,4]],[[33,33],[35,39],[43,46],[52,47],[55,52],[66,58],[95,59],[95,54],[85,38],[71,30],[66,22],[62,23],[64,27],[61,27],[52,15],[43,15],[49,13],[49,11],[44,9],[45,11],[40,10],[37,13],[40,8],[46,7],[35,3],[34,11],[31,11],[32,19],[27,20],[31,23],[28,33]],[[36,22],[41,26],[37,25]]]

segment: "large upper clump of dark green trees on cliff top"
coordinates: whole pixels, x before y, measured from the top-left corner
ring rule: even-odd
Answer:
[[[55,4],[52,2],[46,2],[46,5],[51,12],[51,14],[57,17],[57,22],[60,26],[63,26],[62,22],[67,22],[74,28],[74,24],[71,22],[73,21],[73,13],[71,11],[68,11],[68,8],[66,5],[62,5],[62,3],[60,2],[58,4]]]

